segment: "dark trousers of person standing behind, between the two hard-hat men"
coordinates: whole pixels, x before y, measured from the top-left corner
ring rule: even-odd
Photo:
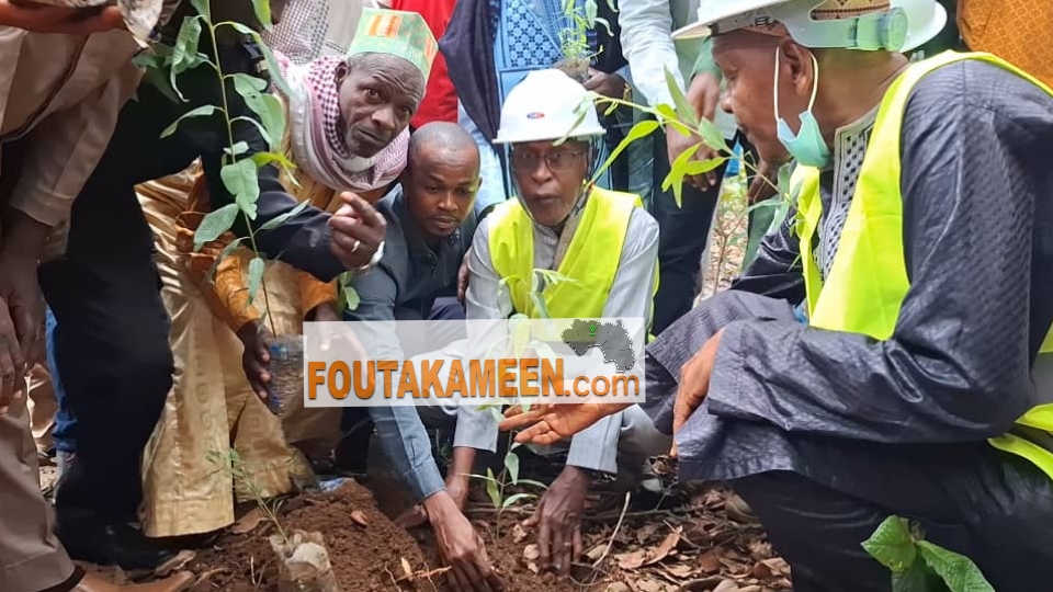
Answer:
[[[682,203],[677,207],[672,191],[661,191],[661,181],[669,174],[666,137],[654,134],[655,184],[650,214],[658,220],[658,294],[655,296],[655,319],[652,332],[666,327],[691,310],[699,295],[702,252],[710,236],[710,225],[721,194],[721,185],[701,191],[683,185]],[[727,163],[714,171],[724,178]]]

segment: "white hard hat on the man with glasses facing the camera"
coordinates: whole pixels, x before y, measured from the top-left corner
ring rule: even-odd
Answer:
[[[602,136],[588,91],[562,70],[534,70],[512,88],[501,105],[495,144]],[[584,113],[582,113],[584,111]],[[577,124],[577,125],[576,125]]]

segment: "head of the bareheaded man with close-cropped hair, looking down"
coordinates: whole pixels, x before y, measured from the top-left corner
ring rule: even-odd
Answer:
[[[480,183],[479,149],[461,126],[434,122],[410,136],[403,190],[426,240],[438,243],[460,228]]]

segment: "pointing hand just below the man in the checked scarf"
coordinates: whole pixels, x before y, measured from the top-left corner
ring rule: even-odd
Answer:
[[[369,264],[381,248],[387,221],[369,202],[354,193],[346,191],[340,198],[344,205],[329,218],[332,229],[329,250],[344,267],[354,270]]]

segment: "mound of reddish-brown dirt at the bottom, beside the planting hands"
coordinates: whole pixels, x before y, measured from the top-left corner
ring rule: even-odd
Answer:
[[[354,481],[328,493],[290,500],[280,520],[285,530],[325,535],[332,570],[343,592],[397,590],[396,581],[411,590],[411,580],[427,579],[424,573],[430,568],[417,542],[395,526],[377,509],[373,494]],[[278,558],[267,540],[273,526],[260,521],[249,532],[245,530],[231,528],[212,548],[197,553],[188,566],[197,574],[192,592],[278,592]],[[407,568],[414,578],[406,577]],[[435,579],[438,583],[441,578]],[[424,582],[423,589],[432,588]]]

